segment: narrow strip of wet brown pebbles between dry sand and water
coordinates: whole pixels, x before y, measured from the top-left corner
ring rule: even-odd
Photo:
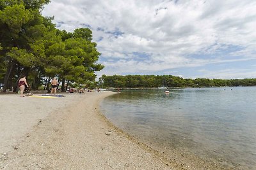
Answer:
[[[155,155],[155,157],[157,157],[158,160],[161,160],[163,164],[167,165],[169,169],[232,169],[232,167],[218,164],[215,160],[202,159],[193,153],[181,152],[174,148],[172,148],[172,150],[166,150],[167,148],[165,147],[159,148],[159,146],[154,146],[150,141],[143,141],[142,139],[125,132],[108,120],[103,113],[100,114],[111,127],[115,128],[116,132],[131,140],[132,143],[140,146],[143,150],[147,150],[147,152]]]

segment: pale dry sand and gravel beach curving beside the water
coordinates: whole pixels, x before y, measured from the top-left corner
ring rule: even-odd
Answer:
[[[99,103],[112,94],[1,95],[0,168],[180,169],[106,120]]]

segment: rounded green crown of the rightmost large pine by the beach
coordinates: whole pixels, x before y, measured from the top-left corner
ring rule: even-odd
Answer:
[[[55,43],[45,50],[45,54],[49,56],[45,72],[49,76],[58,74],[62,78],[79,83],[84,83],[88,79],[94,80],[94,71],[103,68],[101,64],[95,63],[100,53],[86,39],[73,38],[73,36],[67,38],[67,32],[62,35],[65,36],[62,38],[65,41]]]

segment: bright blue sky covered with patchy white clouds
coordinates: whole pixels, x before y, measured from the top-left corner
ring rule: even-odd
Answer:
[[[88,27],[96,72],[182,78],[256,78],[256,1],[51,0],[60,30]]]

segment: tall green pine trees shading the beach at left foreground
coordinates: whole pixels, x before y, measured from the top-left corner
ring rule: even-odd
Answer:
[[[41,11],[49,0],[0,1],[0,87],[17,89],[20,76],[27,76],[32,89],[49,83],[54,76],[61,90],[68,83],[95,80],[100,53],[92,31],[79,28],[60,31]],[[66,86],[67,87],[67,86]]]

